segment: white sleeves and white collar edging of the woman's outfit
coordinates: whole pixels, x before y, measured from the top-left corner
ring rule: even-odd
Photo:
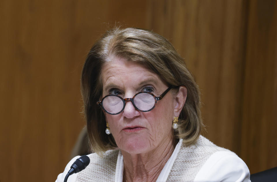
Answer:
[[[183,139],[180,139],[176,145],[171,157],[164,165],[156,182],[165,182],[169,172],[173,166],[173,163],[177,157],[179,148],[182,144]],[[63,182],[65,175],[70,170],[70,166],[80,156],[74,157],[65,167],[63,173],[59,174],[56,182]],[[228,164],[228,165],[226,165]],[[123,156],[121,151],[118,153],[116,171],[115,171],[115,182],[123,181]],[[78,173],[71,175],[68,178],[68,182],[75,182]],[[218,151],[212,154],[205,164],[201,167],[194,182],[250,182],[250,172],[246,164],[240,159],[235,153],[230,151]]]

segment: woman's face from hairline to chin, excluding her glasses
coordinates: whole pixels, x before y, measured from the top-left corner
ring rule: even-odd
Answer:
[[[157,74],[143,65],[120,58],[113,58],[104,64],[101,78],[103,97],[117,94],[122,98],[132,98],[142,91],[158,96],[168,88]],[[103,111],[117,146],[128,153],[138,154],[173,140],[173,100],[171,92],[168,92],[148,112],[136,110],[130,101],[117,115]]]

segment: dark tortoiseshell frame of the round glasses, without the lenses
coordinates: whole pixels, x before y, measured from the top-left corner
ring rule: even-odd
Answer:
[[[141,111],[141,112],[148,112],[148,111],[151,111],[151,110],[153,110],[153,109],[155,108],[155,106],[156,106],[156,104],[157,104],[157,101],[161,100],[161,99],[165,96],[165,94],[166,94],[171,88],[173,88],[173,87],[170,86],[169,88],[167,88],[167,89],[166,89],[162,94],[160,94],[159,96],[155,96],[155,95],[152,94],[151,92],[139,92],[139,93],[136,93],[136,94],[133,96],[133,98],[122,98],[121,96],[118,96],[118,95],[115,95],[115,94],[109,94],[109,95],[104,96],[104,97],[102,98],[101,101],[97,101],[96,104],[97,104],[98,106],[101,106],[102,109],[103,109],[106,113],[111,114],[111,115],[120,114],[120,113],[124,110],[124,108],[125,108],[126,101],[131,101],[132,104],[133,104],[133,106],[136,108],[136,110]],[[152,96],[154,97],[154,99],[155,99],[155,104],[154,104],[154,106],[153,106],[151,109],[147,110],[147,111],[143,111],[143,110],[137,108],[136,105],[134,104],[134,98],[135,98],[135,96],[137,96],[138,94],[141,94],[141,93],[150,94],[150,95],[152,95]],[[108,96],[116,96],[116,97],[120,98],[120,99],[123,101],[123,108],[121,109],[121,111],[119,111],[118,113],[110,113],[110,112],[106,111],[106,109],[105,109],[105,108],[103,107],[103,105],[102,105],[102,101],[103,101],[106,97],[108,97]]]

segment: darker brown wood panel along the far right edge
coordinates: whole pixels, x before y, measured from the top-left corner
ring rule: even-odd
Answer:
[[[277,166],[277,2],[251,1],[241,157],[251,172]]]

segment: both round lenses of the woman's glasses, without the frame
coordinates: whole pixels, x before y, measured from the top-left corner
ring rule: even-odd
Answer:
[[[103,99],[102,106],[109,113],[119,113],[124,107],[124,100],[118,96],[110,95]],[[148,93],[139,93],[134,97],[134,105],[141,111],[148,111],[155,105],[155,98]]]

